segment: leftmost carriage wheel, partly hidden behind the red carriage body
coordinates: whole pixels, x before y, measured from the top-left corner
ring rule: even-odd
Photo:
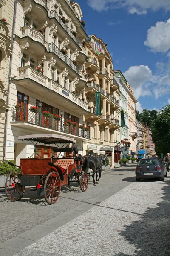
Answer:
[[[25,187],[20,186],[19,174],[20,172],[14,171],[6,178],[5,192],[11,201],[19,201],[25,192]]]

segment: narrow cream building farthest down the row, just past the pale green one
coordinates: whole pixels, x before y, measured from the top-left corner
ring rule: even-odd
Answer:
[[[136,157],[137,153],[137,133],[136,133],[136,103],[137,100],[134,96],[134,92],[127,82],[128,92],[128,114],[129,114],[129,142],[132,157]]]

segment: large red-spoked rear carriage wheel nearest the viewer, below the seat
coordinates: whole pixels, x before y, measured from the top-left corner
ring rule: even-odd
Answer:
[[[48,204],[54,204],[61,190],[61,180],[57,172],[50,172],[45,180],[44,195]]]

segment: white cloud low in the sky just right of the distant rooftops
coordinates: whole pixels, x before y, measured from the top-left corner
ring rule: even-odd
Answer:
[[[136,99],[139,99],[140,96],[150,95],[147,87],[152,77],[152,71],[148,66],[131,66],[124,76],[134,90]]]

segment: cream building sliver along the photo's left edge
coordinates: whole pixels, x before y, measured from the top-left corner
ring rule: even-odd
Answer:
[[[9,67],[14,0],[0,0],[0,161],[4,158],[4,131],[8,111]]]

